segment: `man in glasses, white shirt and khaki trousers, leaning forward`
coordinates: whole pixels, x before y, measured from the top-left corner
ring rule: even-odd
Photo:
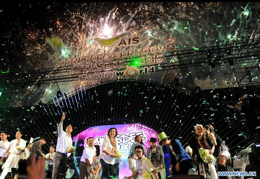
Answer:
[[[93,146],[94,140],[92,137],[87,138],[88,146],[84,148],[79,164],[79,179],[84,179],[87,176],[91,179],[95,175],[95,171],[91,166],[93,160],[96,160],[96,148]]]

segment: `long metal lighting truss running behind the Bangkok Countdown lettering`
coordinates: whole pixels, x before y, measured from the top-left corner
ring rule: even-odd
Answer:
[[[165,57],[166,61],[170,61],[168,63],[161,63],[155,65],[157,67],[156,71],[164,71],[164,70],[173,70],[173,69],[181,69],[181,68],[189,68],[189,67],[197,67],[197,66],[206,66],[214,64],[224,64],[229,63],[229,61],[233,61],[235,66],[242,63],[250,63],[252,59],[254,60],[253,64],[259,61],[260,58],[260,39],[251,39],[245,41],[237,41],[232,44],[226,45],[216,45],[211,47],[204,47],[199,49],[189,49],[183,51],[172,51],[166,52]],[[227,52],[229,51],[229,53]],[[208,57],[206,53],[210,52],[210,56]],[[214,56],[213,56],[214,55]],[[130,63],[133,58],[123,59],[126,62]],[[154,64],[147,64],[138,66],[149,67]],[[251,68],[256,68],[255,66],[251,66]],[[118,69],[118,71],[123,71],[125,68]],[[106,70],[106,72],[111,72],[112,70]],[[41,73],[45,72],[45,77],[41,78]],[[102,72],[100,70],[96,70],[95,72],[85,72],[85,74],[91,74],[96,72]],[[41,84],[48,83],[58,83],[64,81],[76,81],[82,72],[71,72],[70,66],[62,66],[48,69],[34,69],[26,72],[10,72],[7,74],[3,74],[2,78],[4,81],[8,81],[8,84],[12,87],[22,86],[22,85],[33,85],[37,84],[40,81]],[[228,71],[226,71],[228,75]],[[25,75],[29,75],[29,78],[25,78]],[[245,77],[244,77],[245,78]],[[244,84],[241,83],[240,85]]]

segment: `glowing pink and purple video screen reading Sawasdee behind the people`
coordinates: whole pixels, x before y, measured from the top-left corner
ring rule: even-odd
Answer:
[[[150,138],[157,138],[157,132],[148,128],[147,126],[140,124],[126,124],[126,125],[103,125],[89,128],[80,134],[73,137],[73,142],[75,142],[75,150],[74,152],[74,164],[75,164],[75,174],[79,176],[79,163],[80,157],[82,156],[83,149],[87,146],[86,139],[88,137],[93,137],[94,145],[99,145],[100,149],[103,144],[103,140],[107,137],[107,132],[109,128],[116,128],[118,131],[118,135],[116,137],[118,141],[118,145],[120,147],[122,157],[121,163],[119,165],[119,178],[122,179],[124,176],[131,176],[131,172],[128,166],[128,154],[131,148],[132,143],[134,142],[134,138],[136,135],[140,135],[142,137],[145,149],[147,150],[150,147]],[[158,145],[158,142],[157,142]],[[101,151],[101,150],[100,150]]]

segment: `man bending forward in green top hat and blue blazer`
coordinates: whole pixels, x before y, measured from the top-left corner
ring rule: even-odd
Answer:
[[[189,154],[184,150],[179,140],[172,140],[164,132],[157,134],[159,142],[166,145],[170,157],[170,172],[173,175],[188,175],[190,163],[192,162]],[[174,167],[174,168],[173,168]]]

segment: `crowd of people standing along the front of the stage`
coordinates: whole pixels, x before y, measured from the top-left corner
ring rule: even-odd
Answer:
[[[43,155],[41,151],[42,145],[49,141],[46,136],[35,142],[31,138],[26,147],[26,141],[22,139],[23,134],[21,131],[17,131],[16,139],[10,142],[7,140],[7,132],[3,131],[0,142],[0,162],[1,165],[3,163],[4,165],[0,179],[4,179],[7,173],[11,172],[11,168],[18,168],[21,159],[30,159],[31,165],[28,165],[27,172],[31,179],[41,175],[41,172],[34,175],[34,171],[31,171],[36,170],[37,167],[41,169],[40,166],[44,171],[52,171],[52,179],[57,179],[57,177],[65,178],[67,160],[70,154],[74,152],[74,148],[71,139],[73,128],[68,125],[66,132],[63,131],[64,119],[65,114],[63,113],[61,122],[58,125],[57,147],[51,145],[50,152],[46,155]],[[186,150],[179,140],[170,139],[164,132],[157,135],[159,141],[156,138],[151,138],[151,146],[145,150],[142,136],[136,135],[135,142],[133,142],[128,155],[128,164],[132,175],[125,178],[159,179],[158,175],[160,174],[161,179],[166,179],[163,149],[156,145],[157,142],[162,142],[162,145],[166,146],[169,153],[169,171],[172,175],[188,175],[190,170],[196,168],[194,174],[217,179],[217,171],[227,170],[227,162],[231,159],[229,149],[225,142],[215,134],[214,128],[210,124],[204,127],[196,125],[194,133],[194,137],[190,140],[190,145]],[[79,179],[85,177],[88,179],[109,179],[111,176],[119,178],[121,152],[116,139],[118,131],[116,128],[110,128],[107,134],[108,137],[104,139],[101,151],[99,145],[94,145],[93,137],[86,139],[87,146],[83,150],[79,163]],[[205,151],[210,157],[203,156]],[[40,160],[35,159],[34,156],[37,156]],[[209,161],[208,158],[214,158],[215,160]],[[43,175],[43,178],[45,178],[45,175]]]

